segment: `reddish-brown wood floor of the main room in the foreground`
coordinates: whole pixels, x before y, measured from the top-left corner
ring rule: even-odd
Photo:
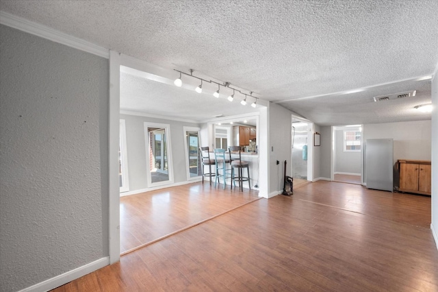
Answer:
[[[55,291],[438,291],[430,197],[314,182]]]

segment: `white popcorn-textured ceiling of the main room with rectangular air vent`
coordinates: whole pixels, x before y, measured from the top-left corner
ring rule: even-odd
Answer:
[[[412,112],[413,100],[378,108],[370,100],[417,89],[417,101],[430,102],[430,82],[414,80],[437,68],[435,0],[0,3],[128,56],[231,82],[321,125],[430,119]],[[176,94],[155,85],[144,86],[149,95]],[[185,112],[177,108],[171,114]]]

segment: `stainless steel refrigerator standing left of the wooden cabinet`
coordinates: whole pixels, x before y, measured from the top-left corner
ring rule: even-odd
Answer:
[[[367,188],[394,191],[393,139],[367,139],[365,168]]]

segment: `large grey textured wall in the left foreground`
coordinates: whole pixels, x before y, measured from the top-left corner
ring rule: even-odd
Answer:
[[[108,255],[108,61],[0,26],[1,291]]]

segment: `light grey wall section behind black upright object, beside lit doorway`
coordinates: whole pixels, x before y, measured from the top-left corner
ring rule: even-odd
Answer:
[[[284,162],[291,163],[291,134],[292,134],[292,112],[270,103],[269,107],[269,169],[270,184],[269,193],[283,191]],[[274,147],[274,151],[272,151]],[[276,160],[280,161],[276,165]],[[289,171],[290,167],[287,168]],[[262,175],[262,174],[261,174]],[[287,173],[291,175],[291,173]]]

